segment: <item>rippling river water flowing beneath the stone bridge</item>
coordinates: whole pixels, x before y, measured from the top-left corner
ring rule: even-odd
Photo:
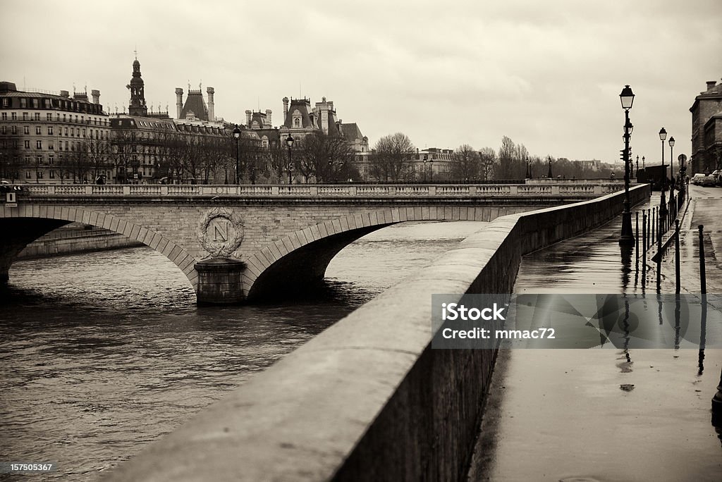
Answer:
[[[150,248],[14,263],[0,293],[0,461],[56,463],[32,480],[93,481],[484,224],[381,229],[334,258],[314,299],[263,306],[196,307]]]

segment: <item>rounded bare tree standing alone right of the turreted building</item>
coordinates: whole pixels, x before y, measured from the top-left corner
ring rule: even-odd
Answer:
[[[376,142],[370,156],[369,174],[378,180],[403,180],[412,175],[414,144],[406,134],[397,132]]]

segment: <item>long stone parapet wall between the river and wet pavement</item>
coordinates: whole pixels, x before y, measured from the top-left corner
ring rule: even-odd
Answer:
[[[522,255],[608,222],[622,197],[496,219],[108,480],[464,478],[496,352],[431,349],[432,294],[510,292]]]

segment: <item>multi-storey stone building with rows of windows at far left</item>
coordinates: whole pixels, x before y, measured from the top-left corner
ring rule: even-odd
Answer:
[[[110,119],[100,91],[25,92],[0,82],[0,162],[3,180],[93,182],[110,177],[105,159]]]

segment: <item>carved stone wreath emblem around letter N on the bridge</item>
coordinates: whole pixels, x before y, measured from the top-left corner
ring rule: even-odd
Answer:
[[[230,258],[243,241],[243,223],[232,209],[213,208],[198,224],[198,239],[212,258]]]

